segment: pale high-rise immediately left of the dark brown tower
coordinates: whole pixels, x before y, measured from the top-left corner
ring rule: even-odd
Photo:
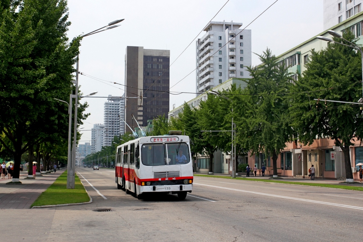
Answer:
[[[122,95],[122,97],[125,96]],[[125,120],[125,98],[109,95],[103,111],[105,124],[103,146],[112,145],[114,136],[120,136],[125,133],[125,123],[122,119]]]

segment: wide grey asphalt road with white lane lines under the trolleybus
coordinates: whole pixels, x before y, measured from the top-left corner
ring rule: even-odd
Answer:
[[[138,200],[117,189],[113,170],[77,172],[93,203],[2,210],[24,217],[9,241],[363,241],[362,192],[195,177],[183,201]]]

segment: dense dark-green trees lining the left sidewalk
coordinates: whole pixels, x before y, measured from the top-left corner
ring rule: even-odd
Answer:
[[[54,98],[69,100],[81,40],[66,36],[67,11],[66,0],[0,1],[0,156],[17,180],[24,154],[45,167],[67,157],[68,106]]]

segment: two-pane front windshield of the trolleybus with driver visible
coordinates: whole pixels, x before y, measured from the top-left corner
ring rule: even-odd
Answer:
[[[189,163],[186,143],[143,144],[141,161],[144,165],[179,165]]]

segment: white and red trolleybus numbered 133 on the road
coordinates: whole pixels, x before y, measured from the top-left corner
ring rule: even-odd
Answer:
[[[171,192],[183,200],[192,192],[189,136],[181,131],[130,140],[117,147],[116,157],[117,188],[128,194],[141,199],[144,193]]]

